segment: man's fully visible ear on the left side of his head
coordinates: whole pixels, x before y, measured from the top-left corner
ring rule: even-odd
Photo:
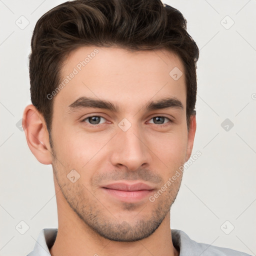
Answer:
[[[51,164],[49,133],[43,116],[32,104],[27,105],[24,109],[22,127],[28,147],[36,159],[40,163]]]

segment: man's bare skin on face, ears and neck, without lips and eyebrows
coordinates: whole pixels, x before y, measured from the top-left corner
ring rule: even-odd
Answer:
[[[61,69],[65,77],[97,48],[93,57],[51,100],[53,120],[49,134],[42,115],[26,106],[23,124],[28,146],[37,160],[52,164],[58,211],[58,233],[51,255],[178,255],[171,240],[170,206],[182,172],[153,202],[153,195],[188,160],[196,129],[195,115],[186,124],[185,77],[169,72],[180,58],[166,50],[129,52],[118,47],[84,46],[72,51]],[[101,108],[68,107],[80,96],[111,101],[119,112]],[[181,108],[145,111],[152,100],[175,97]],[[88,116],[102,116],[93,124]],[[156,122],[156,116],[164,116]],[[118,123],[131,126],[123,131]],[[170,122],[170,120],[172,122]],[[165,126],[162,126],[164,124]],[[94,126],[93,126],[94,125]],[[75,169],[80,177],[67,178]],[[129,202],[102,189],[115,182],[141,181],[154,189]]]

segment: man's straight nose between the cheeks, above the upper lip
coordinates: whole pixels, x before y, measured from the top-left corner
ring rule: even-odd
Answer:
[[[128,170],[137,170],[151,161],[150,149],[143,132],[132,125],[128,130],[119,130],[114,137],[110,161],[114,166],[126,166]]]

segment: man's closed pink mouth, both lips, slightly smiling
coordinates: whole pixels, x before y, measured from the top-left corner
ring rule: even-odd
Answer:
[[[154,187],[142,182],[125,183],[116,182],[101,187],[111,197],[125,202],[136,202],[152,194]]]

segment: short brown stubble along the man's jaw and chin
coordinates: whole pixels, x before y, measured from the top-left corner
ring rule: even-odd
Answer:
[[[112,213],[106,207],[106,203],[101,198],[95,196],[94,190],[88,189],[81,183],[82,178],[78,179],[75,183],[70,182],[66,177],[69,171],[60,164],[52,141],[50,141],[50,145],[53,156],[52,169],[63,197],[90,231],[106,239],[132,242],[150,236],[166,217],[178,193],[182,175],[171,184],[168,190],[164,191],[164,194],[156,198],[154,202],[147,200],[144,205],[141,205],[141,209],[133,218],[129,220],[123,220],[121,217],[116,218],[114,212]],[[80,174],[82,175],[82,173]],[[96,182],[98,177],[95,177],[93,180]],[[152,203],[154,205],[153,208]],[[120,211],[125,213],[128,211],[131,215],[134,215],[133,211],[137,208],[136,203],[120,203]],[[148,213],[148,208],[151,209],[151,214],[145,217],[143,214],[145,212]],[[121,216],[122,214],[119,215]]]

